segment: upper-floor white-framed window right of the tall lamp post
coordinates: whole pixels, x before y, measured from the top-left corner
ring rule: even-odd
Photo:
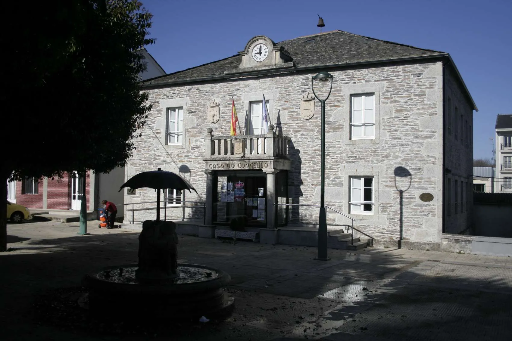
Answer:
[[[361,94],[351,96],[350,138],[375,138],[375,96]]]

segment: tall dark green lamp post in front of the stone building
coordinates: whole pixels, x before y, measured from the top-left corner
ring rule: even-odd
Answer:
[[[318,98],[315,93],[313,81],[327,83],[330,82],[329,93],[324,99]],[[318,73],[316,76],[311,77],[311,89],[313,95],[322,104],[322,137],[321,137],[321,161],[320,161],[320,212],[318,215],[318,257],[315,258],[319,261],[328,261],[327,257],[327,212],[325,209],[325,101],[329,98],[332,91],[332,75],[326,71]],[[325,89],[325,88],[324,88]]]

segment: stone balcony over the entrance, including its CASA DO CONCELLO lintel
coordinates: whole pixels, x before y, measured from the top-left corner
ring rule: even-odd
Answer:
[[[290,169],[290,137],[273,131],[265,135],[204,137],[206,169]]]

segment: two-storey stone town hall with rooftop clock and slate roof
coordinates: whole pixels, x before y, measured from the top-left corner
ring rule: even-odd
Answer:
[[[435,246],[443,232],[471,226],[477,108],[450,55],[344,31],[277,44],[255,36],[234,56],[146,80],[153,109],[125,178],[157,167],[179,172],[199,193],[185,201],[205,203],[207,226],[238,218],[248,228],[314,229],[322,126],[312,76],[321,71],[333,76],[325,108],[329,226],[353,219],[374,245],[401,239],[402,247]],[[317,94],[322,85],[315,82]],[[168,205],[181,196],[169,190]],[[155,198],[140,189],[125,202]],[[132,213],[140,221],[155,211]],[[202,219],[203,210],[187,216]]]

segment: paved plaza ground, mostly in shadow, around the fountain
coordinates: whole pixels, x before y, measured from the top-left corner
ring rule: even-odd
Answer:
[[[222,323],[127,332],[76,303],[82,276],[137,263],[137,231],[78,223],[8,224],[0,253],[5,340],[508,340],[512,258],[370,247],[329,249],[180,236],[179,262],[231,275],[233,314]],[[127,298],[129,299],[129,298]],[[206,316],[208,317],[208,316]],[[508,335],[508,336],[507,336]]]

